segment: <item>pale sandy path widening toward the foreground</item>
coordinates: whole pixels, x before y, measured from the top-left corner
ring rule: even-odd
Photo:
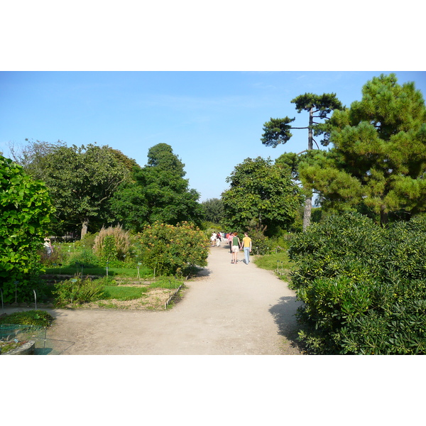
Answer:
[[[47,337],[73,342],[65,355],[301,354],[295,293],[243,258],[231,264],[229,249],[213,247],[204,276],[167,311],[46,309],[56,318]]]

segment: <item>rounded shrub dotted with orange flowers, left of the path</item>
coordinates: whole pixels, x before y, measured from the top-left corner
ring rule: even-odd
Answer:
[[[195,266],[207,266],[209,240],[188,222],[147,225],[138,234],[138,246],[142,262],[159,274],[186,275]]]

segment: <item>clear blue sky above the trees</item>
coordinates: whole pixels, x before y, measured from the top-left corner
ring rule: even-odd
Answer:
[[[271,117],[295,116],[294,126],[307,125],[307,113],[298,114],[291,99],[334,92],[349,107],[381,72],[0,72],[0,151],[9,156],[9,143],[25,138],[96,141],[143,166],[151,146],[168,143],[204,201],[220,197],[245,158],[275,159],[307,147],[306,130],[294,130],[277,148],[260,141]],[[426,97],[426,72],[395,73]]]

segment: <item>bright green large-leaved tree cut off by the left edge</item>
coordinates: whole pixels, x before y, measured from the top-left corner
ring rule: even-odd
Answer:
[[[4,302],[14,300],[15,282],[20,296],[25,297],[31,276],[40,272],[38,251],[54,211],[43,182],[0,156],[0,286]]]

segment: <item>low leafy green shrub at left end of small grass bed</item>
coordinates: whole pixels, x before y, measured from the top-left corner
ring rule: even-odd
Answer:
[[[71,280],[55,284],[55,291],[53,293],[56,296],[55,304],[58,306],[72,303],[80,305],[81,303],[102,299],[104,296],[104,283],[76,275]]]

